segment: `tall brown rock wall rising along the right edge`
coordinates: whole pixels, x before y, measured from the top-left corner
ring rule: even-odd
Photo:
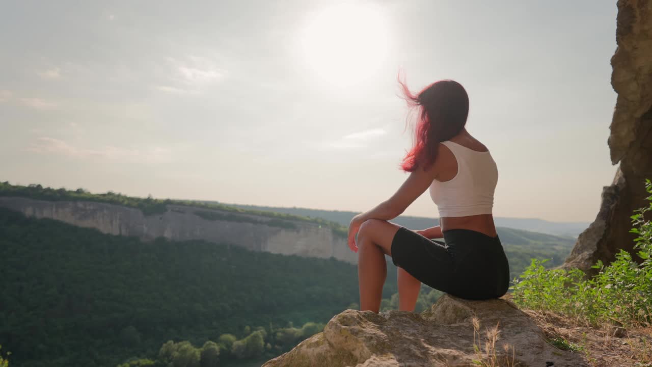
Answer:
[[[645,205],[644,180],[652,179],[652,1],[619,0],[612,86],[618,97],[608,144],[614,183],[605,187],[595,222],[580,234],[565,266],[591,272],[619,249],[632,252],[630,215]]]

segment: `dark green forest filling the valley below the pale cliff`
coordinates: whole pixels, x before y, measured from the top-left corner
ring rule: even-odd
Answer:
[[[278,355],[358,298],[357,268],[342,261],[142,242],[5,209],[0,259],[0,344],[16,366],[115,366],[168,340],[259,328]],[[385,297],[394,293],[390,275]]]

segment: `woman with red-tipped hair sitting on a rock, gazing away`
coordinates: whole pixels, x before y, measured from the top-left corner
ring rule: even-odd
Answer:
[[[498,172],[486,146],[464,127],[468,95],[452,80],[417,95],[400,84],[408,103],[419,107],[416,141],[402,163],[410,172],[406,182],[349,226],[349,247],[358,253],[360,310],[379,311],[385,255],[398,266],[401,311],[414,310],[421,282],[467,299],[502,296],[509,264],[492,216]],[[426,189],[439,210],[439,226],[410,231],[389,222]],[[430,240],[442,237],[445,245]]]

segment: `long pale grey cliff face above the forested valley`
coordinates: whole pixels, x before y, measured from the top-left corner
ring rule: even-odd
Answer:
[[[95,228],[107,234],[137,236],[143,240],[158,237],[175,241],[205,240],[254,251],[335,257],[349,263],[357,261],[357,255],[349,250],[346,239],[335,236],[327,227],[304,221],[283,219],[279,227],[278,219],[274,223],[270,217],[236,214],[237,218],[234,218],[232,212],[181,205],[168,205],[165,213],[145,216],[138,209],[113,204],[22,197],[0,197],[0,206],[28,217],[50,218],[79,227]],[[225,217],[232,220],[220,219]]]

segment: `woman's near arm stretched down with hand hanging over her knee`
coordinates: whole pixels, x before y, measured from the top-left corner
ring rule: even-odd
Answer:
[[[362,214],[355,215],[349,225],[349,248],[357,252],[358,247],[355,245],[355,235],[360,226],[369,219],[380,219],[389,221],[402,214],[414,200],[421,196],[428,189],[432,180],[437,177],[436,164],[427,169],[417,168],[411,172],[407,180],[398,188],[398,191],[391,198],[378,204],[372,210]]]

